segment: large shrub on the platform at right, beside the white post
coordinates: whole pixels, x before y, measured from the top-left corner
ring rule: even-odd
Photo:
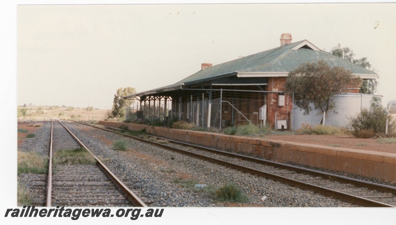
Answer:
[[[387,109],[381,106],[380,99],[373,97],[370,109],[362,109],[360,114],[350,119],[352,134],[358,137],[362,130],[372,130],[376,134],[383,134],[385,133],[387,119],[389,121],[388,131],[392,133],[396,128],[396,121]]]

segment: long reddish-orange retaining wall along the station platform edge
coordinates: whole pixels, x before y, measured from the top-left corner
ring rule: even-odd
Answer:
[[[99,121],[99,124],[116,128],[125,125],[131,130],[146,128],[153,135],[182,142],[396,182],[396,153],[389,151],[332,147],[321,145],[323,143],[320,141],[318,144],[299,143],[114,121]]]

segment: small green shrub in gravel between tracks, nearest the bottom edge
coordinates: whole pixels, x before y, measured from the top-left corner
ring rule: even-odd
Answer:
[[[215,191],[216,200],[222,202],[247,202],[248,198],[234,183],[226,183]]]

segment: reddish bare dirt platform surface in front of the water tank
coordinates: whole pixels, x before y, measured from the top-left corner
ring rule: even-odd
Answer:
[[[379,143],[378,139],[362,139],[352,136],[328,135],[266,135],[271,140],[291,141],[350,149],[396,153],[396,143]]]

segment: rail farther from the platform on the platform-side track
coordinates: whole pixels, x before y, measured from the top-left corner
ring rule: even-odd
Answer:
[[[77,121],[75,121],[75,122],[77,122]],[[78,123],[81,123],[81,122],[78,122]],[[132,139],[135,139],[135,140],[138,140],[138,141],[142,141],[142,142],[154,145],[154,146],[158,146],[158,147],[165,148],[165,149],[168,149],[168,150],[171,150],[171,151],[175,151],[175,152],[178,152],[178,153],[182,153],[182,154],[185,154],[185,155],[189,155],[189,156],[192,156],[192,157],[203,159],[203,160],[206,160],[206,161],[209,161],[209,162],[212,162],[212,163],[220,164],[222,166],[226,166],[226,167],[229,167],[229,168],[232,168],[232,169],[238,169],[238,170],[250,173],[250,174],[254,174],[254,175],[262,176],[262,177],[269,178],[269,179],[272,179],[272,180],[276,180],[276,181],[279,181],[279,182],[282,182],[282,183],[285,183],[285,184],[288,184],[288,185],[291,185],[291,186],[296,186],[296,187],[298,187],[300,189],[311,190],[311,191],[314,191],[316,193],[320,193],[320,194],[322,194],[324,196],[338,198],[338,199],[341,199],[343,201],[346,201],[346,202],[349,202],[349,203],[353,203],[353,204],[357,204],[357,205],[361,205],[361,206],[364,206],[364,207],[395,207],[393,205],[385,204],[385,203],[374,201],[374,200],[367,199],[367,198],[362,198],[362,197],[359,197],[359,196],[356,196],[356,195],[347,194],[347,193],[344,193],[344,192],[340,192],[340,191],[337,191],[337,190],[333,190],[333,189],[317,186],[317,185],[314,185],[314,184],[298,181],[298,180],[291,179],[291,178],[288,178],[288,177],[276,175],[276,174],[273,174],[273,173],[270,173],[270,172],[265,172],[265,171],[261,171],[261,170],[257,170],[257,169],[252,169],[252,168],[248,168],[248,167],[245,167],[245,166],[242,166],[242,165],[229,163],[229,162],[226,162],[226,161],[223,161],[223,160],[210,158],[210,157],[207,157],[207,156],[204,156],[204,155],[200,155],[200,154],[197,154],[197,153],[188,152],[188,151],[185,151],[185,150],[182,150],[182,149],[178,149],[178,148],[171,147],[171,146],[168,146],[168,145],[160,144],[160,143],[157,143],[157,142],[148,141],[148,140],[145,140],[145,139],[142,139],[142,138],[138,138],[138,137],[131,136],[131,135],[128,135],[128,134],[120,133],[120,132],[117,132],[117,131],[113,131],[113,130],[109,130],[109,129],[105,129],[105,128],[101,128],[101,127],[97,127],[97,126],[93,126],[93,125],[85,124],[85,123],[81,123],[81,124],[92,126],[92,127],[95,127],[95,128],[106,130],[106,131],[115,132],[115,133],[121,134],[121,135],[123,135],[125,137],[129,137],[129,138],[132,138]],[[301,169],[303,169],[303,168],[301,168]],[[314,170],[312,170],[312,171],[314,171]]]

